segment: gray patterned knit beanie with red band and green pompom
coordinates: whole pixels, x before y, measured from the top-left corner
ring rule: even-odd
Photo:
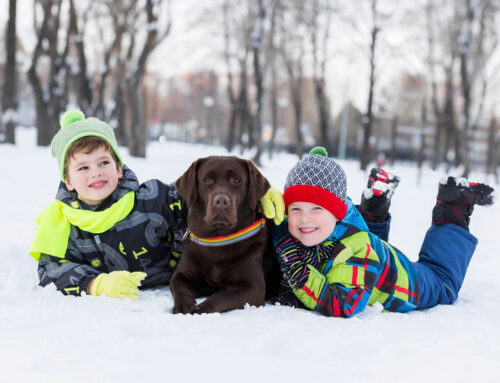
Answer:
[[[290,170],[286,178],[285,206],[293,202],[310,202],[330,211],[338,220],[347,212],[347,179],[344,169],[327,157],[326,150],[316,147]]]

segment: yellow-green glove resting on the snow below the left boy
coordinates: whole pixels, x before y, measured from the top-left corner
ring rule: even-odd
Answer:
[[[111,298],[130,298],[136,300],[139,297],[138,287],[146,278],[146,273],[139,271],[112,271],[102,273],[95,277],[90,285],[90,295],[106,295]]]

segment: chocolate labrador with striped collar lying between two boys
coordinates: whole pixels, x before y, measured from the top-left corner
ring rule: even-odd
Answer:
[[[189,215],[170,281],[174,314],[262,306],[266,286],[268,296],[277,290],[279,266],[259,206],[269,187],[251,161],[229,156],[201,158],[175,182]],[[200,296],[208,298],[196,304]]]

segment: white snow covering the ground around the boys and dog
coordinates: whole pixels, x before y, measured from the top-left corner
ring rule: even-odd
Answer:
[[[36,147],[32,129],[0,145],[0,366],[15,382],[498,382],[500,365],[500,204],[478,207],[471,232],[479,245],[455,305],[409,314],[367,309],[351,318],[266,305],[224,314],[173,315],[168,287],[137,301],[65,297],[38,286],[28,255],[34,219],[55,195],[56,161]],[[148,158],[125,162],[144,181],[172,182],[198,157],[222,148],[151,144]],[[250,157],[250,153],[246,156]],[[296,157],[264,157],[261,169],[282,188]],[[342,161],[354,202],[367,173]],[[393,169],[391,242],[416,259],[443,173]],[[474,181],[484,182],[482,174]],[[497,189],[499,185],[495,186]]]

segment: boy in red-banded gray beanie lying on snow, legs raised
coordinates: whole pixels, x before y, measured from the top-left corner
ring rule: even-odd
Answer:
[[[368,189],[379,176],[372,173]],[[283,279],[275,301],[342,317],[377,302],[395,312],[454,303],[477,244],[468,231],[470,214],[475,204],[491,205],[492,192],[452,177],[440,185],[433,224],[411,262],[368,230],[346,195],[342,167],[323,148],[313,149],[286,180],[288,228],[276,244]],[[389,194],[365,196],[359,210],[387,225],[380,205],[388,209]]]

